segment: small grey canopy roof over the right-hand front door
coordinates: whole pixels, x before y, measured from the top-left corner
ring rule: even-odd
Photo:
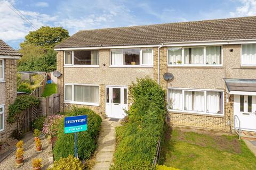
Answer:
[[[224,79],[228,91],[256,92],[256,79]]]

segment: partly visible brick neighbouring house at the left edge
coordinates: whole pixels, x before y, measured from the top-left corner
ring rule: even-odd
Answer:
[[[21,55],[0,39],[0,141],[9,139],[15,124],[6,122],[8,108],[17,97],[17,60]]]

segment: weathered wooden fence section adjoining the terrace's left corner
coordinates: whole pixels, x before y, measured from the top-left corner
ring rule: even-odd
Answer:
[[[44,116],[53,115],[60,112],[60,95],[53,94],[49,97],[40,97],[39,112]]]

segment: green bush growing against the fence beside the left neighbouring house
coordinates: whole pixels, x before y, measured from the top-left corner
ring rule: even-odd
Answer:
[[[22,111],[25,111],[26,108],[29,108],[31,106],[38,106],[40,104],[40,101],[35,96],[30,95],[22,95],[18,96],[14,103],[9,105],[9,115],[7,118],[8,123],[14,123],[19,118],[19,114]]]

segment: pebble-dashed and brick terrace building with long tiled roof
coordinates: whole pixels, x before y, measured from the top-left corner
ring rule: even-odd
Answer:
[[[123,118],[128,87],[149,76],[166,90],[171,124],[229,131],[236,115],[256,131],[255,28],[251,16],[78,31],[54,48],[61,109]]]

